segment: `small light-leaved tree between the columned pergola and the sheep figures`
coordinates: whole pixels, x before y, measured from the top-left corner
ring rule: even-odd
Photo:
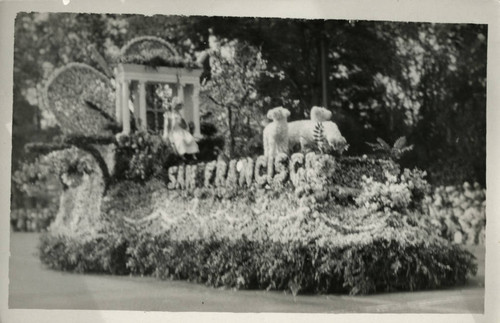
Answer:
[[[210,77],[203,91],[215,105],[213,112],[219,117],[227,138],[229,157],[251,153],[252,139],[260,139],[263,107],[269,98],[262,98],[258,85],[264,77],[275,77],[267,71],[267,63],[260,50],[239,41],[219,41],[212,37],[208,51]],[[249,146],[250,144],[250,146]]]

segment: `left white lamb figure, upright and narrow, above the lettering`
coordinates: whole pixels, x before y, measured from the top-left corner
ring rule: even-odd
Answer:
[[[276,107],[267,112],[267,118],[273,120],[262,133],[264,156],[275,157],[278,153],[288,154],[288,122],[290,111]]]

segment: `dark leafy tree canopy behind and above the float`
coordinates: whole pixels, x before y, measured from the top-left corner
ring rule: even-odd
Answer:
[[[283,105],[294,120],[325,105],[349,154],[372,153],[366,142],[377,137],[406,136],[415,148],[404,166],[429,170],[435,183],[485,184],[486,25],[20,13],[15,28],[15,123],[52,69],[81,62],[104,72],[90,46],[112,69],[136,36],[166,39],[193,60],[215,37],[259,49],[267,71],[280,75],[260,78],[258,95],[269,98],[261,113]],[[237,121],[232,133],[244,137],[245,126]]]

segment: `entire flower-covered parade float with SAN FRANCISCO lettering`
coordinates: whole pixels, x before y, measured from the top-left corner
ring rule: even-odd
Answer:
[[[122,62],[144,63],[146,51],[175,73],[196,68],[152,37],[126,49]],[[139,108],[129,102],[131,88],[83,64],[63,67],[45,87],[65,136],[23,180],[57,174],[64,186],[40,242],[49,267],[294,295],[442,288],[475,274],[474,256],[449,240],[435,216],[444,211],[429,202],[425,173],[332,154],[346,142],[326,125],[331,114],[311,113],[305,122],[310,140],[300,144],[318,150],[288,154],[294,133],[306,130],[287,124],[279,108],[268,114],[279,125],[265,132],[266,155],[185,163],[168,135],[145,131],[146,85],[139,84]],[[184,101],[199,129],[197,99]]]

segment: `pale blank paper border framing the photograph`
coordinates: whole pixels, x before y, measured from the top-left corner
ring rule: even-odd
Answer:
[[[485,314],[229,314],[137,311],[70,311],[8,309],[8,260],[10,237],[10,155],[13,88],[14,18],[17,12],[89,12],[181,14],[206,16],[265,16],[283,18],[324,18],[391,20],[439,23],[488,24],[487,99],[487,230]],[[499,0],[0,0],[0,322],[500,322],[500,1]]]

